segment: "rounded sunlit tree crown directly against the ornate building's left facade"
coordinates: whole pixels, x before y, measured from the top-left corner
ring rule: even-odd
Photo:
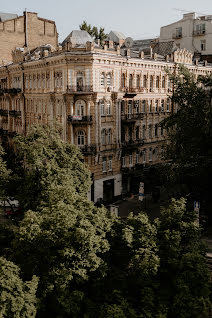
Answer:
[[[59,128],[33,126],[27,136],[15,138],[14,147],[13,181],[25,210],[87,197],[90,172],[80,150],[62,141]]]

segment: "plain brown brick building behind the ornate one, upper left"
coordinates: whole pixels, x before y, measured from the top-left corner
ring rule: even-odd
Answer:
[[[15,48],[35,49],[42,44],[58,45],[58,34],[54,21],[39,18],[37,13],[0,13],[0,65],[12,61]]]

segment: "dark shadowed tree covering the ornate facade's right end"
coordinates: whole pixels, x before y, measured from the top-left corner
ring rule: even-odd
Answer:
[[[170,75],[174,85],[172,104],[177,106],[161,125],[168,131],[165,158],[171,163],[175,183],[187,184],[191,200],[211,207],[212,180],[212,79],[195,78],[179,65]]]

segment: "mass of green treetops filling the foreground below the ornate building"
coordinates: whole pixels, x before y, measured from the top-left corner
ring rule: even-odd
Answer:
[[[89,171],[59,130],[33,127],[14,147],[11,174],[25,214],[12,244],[0,236],[0,256],[10,259],[0,259],[2,317],[12,310],[16,318],[36,310],[38,318],[207,314],[205,248],[184,199],[173,200],[160,221],[142,212],[119,219],[87,199]]]

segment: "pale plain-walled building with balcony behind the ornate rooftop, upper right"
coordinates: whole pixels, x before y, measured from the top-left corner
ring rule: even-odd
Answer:
[[[212,62],[212,15],[184,14],[183,19],[160,29],[159,41],[174,41],[178,48],[191,51],[194,57]]]

